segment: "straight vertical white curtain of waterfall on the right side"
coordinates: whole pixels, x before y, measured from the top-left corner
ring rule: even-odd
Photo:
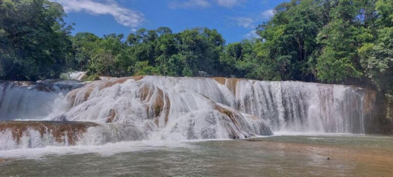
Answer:
[[[354,86],[241,80],[235,107],[276,131],[364,134],[376,93]]]

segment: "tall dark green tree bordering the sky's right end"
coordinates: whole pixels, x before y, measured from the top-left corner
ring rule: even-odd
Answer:
[[[319,50],[316,36],[326,23],[326,3],[293,0],[278,5],[272,19],[257,28],[262,40],[255,50],[261,66],[255,67],[253,75],[274,80],[314,80],[314,66],[310,64]]]

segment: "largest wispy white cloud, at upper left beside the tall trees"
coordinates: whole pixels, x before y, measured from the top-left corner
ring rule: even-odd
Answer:
[[[120,7],[115,1],[51,0],[60,3],[65,12],[87,12],[94,15],[112,15],[117,23],[127,27],[138,27],[144,21],[141,12]]]

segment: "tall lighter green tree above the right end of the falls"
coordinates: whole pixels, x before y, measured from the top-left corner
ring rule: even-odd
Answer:
[[[317,59],[318,79],[332,82],[360,78],[363,72],[357,50],[362,42],[373,38],[365,23],[373,13],[365,13],[367,7],[362,1],[340,0],[331,5],[331,21],[318,34],[323,46]]]

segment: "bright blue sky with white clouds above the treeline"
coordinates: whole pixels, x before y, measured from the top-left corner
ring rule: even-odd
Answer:
[[[258,24],[269,20],[273,9],[286,0],[51,0],[64,7],[65,21],[75,23],[73,34],[98,36],[140,28],[169,27],[173,32],[207,27],[227,42],[256,37]]]

